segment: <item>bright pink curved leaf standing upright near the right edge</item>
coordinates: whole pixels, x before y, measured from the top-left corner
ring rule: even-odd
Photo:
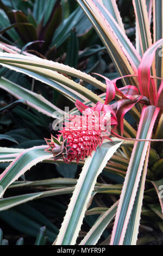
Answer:
[[[151,100],[155,105],[156,100],[156,84],[151,80],[151,66],[158,47],[163,44],[163,39],[155,42],[142,57],[138,68],[138,80],[140,86],[140,93]]]

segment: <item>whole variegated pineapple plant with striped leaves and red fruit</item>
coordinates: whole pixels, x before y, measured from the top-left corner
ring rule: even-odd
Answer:
[[[163,231],[161,192],[163,78],[161,77],[162,55],[160,56],[163,39],[159,26],[159,22],[162,22],[159,12],[162,1],[133,0],[136,17],[135,47],[127,38],[115,0],[108,2],[77,0],[77,2],[92,22],[120,77],[109,80],[102,76],[104,82],[101,82],[70,66],[27,56],[26,52],[23,55],[18,51],[11,53],[11,47],[9,45],[5,47],[8,53],[1,54],[1,65],[46,82],[51,87],[54,86],[53,82],[57,83],[57,88],[76,102],[77,108],[73,111],[79,109],[80,112],[84,112],[86,130],[81,130],[80,115],[73,115],[70,112],[68,123],[65,123],[60,130],[61,135],[46,139],[48,145],[40,145],[21,153],[14,151],[15,155],[12,154],[13,157],[15,156],[14,161],[0,176],[0,185],[3,188],[1,195],[12,182],[37,162],[49,159],[57,161],[61,158],[66,163],[74,160],[77,163],[82,161],[84,165],[82,173],[74,188],[57,239],[53,243],[75,245],[87,206],[91,203],[93,192],[98,191],[97,177],[104,168],[108,167],[109,173],[124,177],[120,198],[109,209],[91,209],[97,210],[101,215],[80,245],[95,245],[114,217],[109,244],[136,245],[140,220],[141,224],[146,224],[150,218],[156,227]],[[153,38],[151,28],[153,28]],[[71,80],[70,76],[82,79],[104,93],[96,95],[77,81]],[[116,82],[120,79],[123,87],[118,88]],[[14,83],[1,78],[0,84],[1,88],[15,95]],[[30,92],[27,90],[21,93],[25,100],[28,99],[29,106],[45,113],[43,108],[49,106],[45,99],[42,99],[44,107],[41,108],[37,95],[33,100],[30,99]],[[20,94],[18,96],[22,97]],[[103,127],[100,126],[97,130],[100,111],[104,112]],[[135,119],[135,127],[125,119],[124,115],[127,112]],[[89,113],[93,120],[92,130],[87,129]],[[48,111],[48,114],[52,115],[51,111]],[[110,132],[104,140],[102,132],[106,129],[107,119],[110,119]],[[7,154],[2,157],[9,160]],[[102,186],[99,190],[101,189]]]

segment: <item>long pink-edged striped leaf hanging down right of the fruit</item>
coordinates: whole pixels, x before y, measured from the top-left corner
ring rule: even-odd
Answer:
[[[152,136],[155,119],[159,113],[155,106],[145,106],[142,110],[139,128],[136,138],[150,139]],[[135,142],[130,157],[130,162],[124,180],[120,203],[118,204],[114,228],[112,230],[111,245],[123,245],[124,236],[129,223],[131,211],[133,210],[136,192],[142,175],[143,164],[146,158],[149,142]],[[141,194],[142,196],[142,194]],[[139,200],[140,198],[138,198]],[[135,222],[134,218],[132,222]],[[138,218],[139,219],[139,218]],[[139,220],[136,220],[139,222]],[[132,236],[132,230],[130,235]],[[136,234],[134,234],[136,235]]]

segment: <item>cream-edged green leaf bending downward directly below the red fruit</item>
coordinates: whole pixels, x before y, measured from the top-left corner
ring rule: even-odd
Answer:
[[[76,243],[97,177],[122,142],[103,144],[101,148],[97,148],[96,152],[92,152],[92,157],[87,157],[68,205],[59,235],[54,242],[55,245],[74,245]]]

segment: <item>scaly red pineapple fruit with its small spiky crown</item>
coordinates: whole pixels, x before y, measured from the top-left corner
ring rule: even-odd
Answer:
[[[46,151],[49,152],[50,149],[54,155],[54,161],[62,158],[68,163],[74,160],[78,163],[79,160],[91,156],[98,145],[101,147],[104,138],[109,138],[104,133],[106,132],[106,113],[100,118],[98,112],[87,107],[82,114],[82,116],[70,115],[68,122],[65,122],[65,127],[59,131],[62,137],[58,135],[58,139],[54,136],[51,140],[46,139],[49,145]]]

